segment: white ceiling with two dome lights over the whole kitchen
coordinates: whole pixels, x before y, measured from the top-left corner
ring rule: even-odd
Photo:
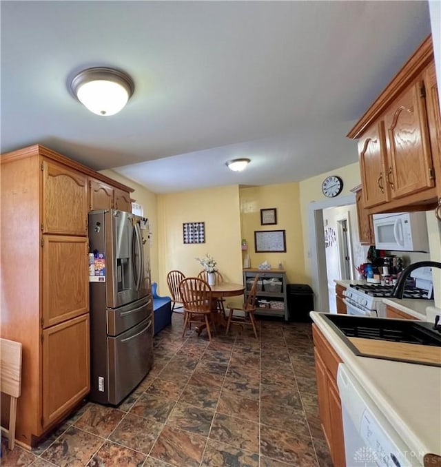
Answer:
[[[40,143],[161,193],[298,181],[356,162],[345,135],[430,33],[426,1],[1,1],[1,152]],[[70,94],[128,72],[120,114]],[[225,167],[249,157],[245,172]]]

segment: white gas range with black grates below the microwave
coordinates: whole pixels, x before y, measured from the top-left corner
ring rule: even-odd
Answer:
[[[416,269],[411,273],[415,284],[409,284],[404,289],[402,298],[430,300],[433,297],[433,282],[431,268]],[[386,318],[386,307],[383,298],[390,297],[392,285],[351,284],[343,295],[348,315],[378,316]]]

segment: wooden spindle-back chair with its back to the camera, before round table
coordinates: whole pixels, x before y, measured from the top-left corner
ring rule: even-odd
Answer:
[[[211,311],[212,311],[212,288],[205,280],[200,278],[186,278],[181,281],[179,291],[184,306],[184,329],[182,337],[185,335],[187,326],[190,328],[192,322],[205,322],[209,340],[212,340],[210,331]]]

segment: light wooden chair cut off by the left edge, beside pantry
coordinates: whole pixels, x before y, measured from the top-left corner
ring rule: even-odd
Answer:
[[[8,430],[1,427],[8,436],[8,448],[14,449],[17,399],[21,394],[21,343],[0,339],[0,391],[10,397]]]

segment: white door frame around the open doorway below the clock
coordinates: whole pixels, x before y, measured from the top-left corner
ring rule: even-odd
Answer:
[[[311,239],[311,282],[315,295],[314,309],[316,311],[329,311],[328,284],[325,255],[325,238],[323,224],[323,209],[327,207],[338,207],[355,205],[356,195],[354,193],[338,198],[323,201],[314,201],[308,206],[308,228]]]

